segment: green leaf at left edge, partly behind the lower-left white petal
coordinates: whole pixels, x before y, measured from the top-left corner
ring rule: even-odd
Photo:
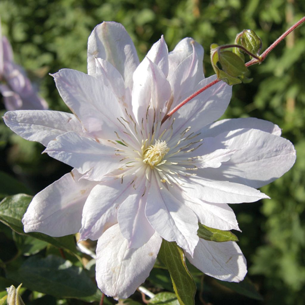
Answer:
[[[25,194],[5,197],[0,203],[0,221],[19,234],[40,239],[52,244],[53,246],[65,248],[70,250],[72,253],[77,254],[78,251],[74,241],[74,235],[51,237],[37,232],[24,233],[21,219],[26,212],[32,198],[32,196]]]

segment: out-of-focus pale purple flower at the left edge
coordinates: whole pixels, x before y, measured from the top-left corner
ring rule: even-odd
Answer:
[[[0,25],[1,27],[1,25]],[[48,109],[23,68],[13,62],[13,50],[0,28],[0,92],[7,110]]]

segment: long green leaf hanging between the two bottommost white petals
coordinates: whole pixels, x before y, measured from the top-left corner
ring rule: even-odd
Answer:
[[[183,250],[175,242],[163,239],[158,257],[170,273],[179,304],[194,305],[196,284],[186,267]]]

